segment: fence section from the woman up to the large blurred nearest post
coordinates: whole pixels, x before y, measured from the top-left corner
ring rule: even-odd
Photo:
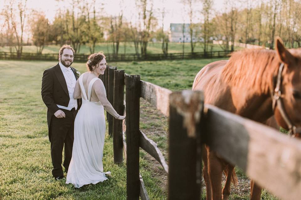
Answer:
[[[124,70],[117,70],[116,67],[111,66],[107,66],[106,73],[100,78],[105,85],[108,100],[114,99],[111,104],[118,113],[124,113],[124,85],[126,87],[126,133],[124,134],[121,121],[113,120],[113,117],[107,113],[108,134],[113,136],[114,163],[123,162],[123,152],[126,156],[127,199],[139,199],[139,197],[143,200],[149,199],[143,178],[139,173],[139,148],[144,149],[161,163],[166,173],[168,173],[168,165],[156,143],[139,129],[140,97],[168,116],[168,105],[157,103],[157,100],[162,98],[168,103],[171,91],[140,80],[140,75],[127,75],[124,74]]]

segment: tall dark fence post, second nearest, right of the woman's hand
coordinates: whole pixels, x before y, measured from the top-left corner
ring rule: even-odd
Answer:
[[[127,200],[139,200],[140,75],[126,75],[125,88]]]

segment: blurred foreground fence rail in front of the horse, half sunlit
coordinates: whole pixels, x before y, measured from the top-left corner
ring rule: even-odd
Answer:
[[[205,105],[206,143],[281,199],[300,199],[301,141],[261,123]]]

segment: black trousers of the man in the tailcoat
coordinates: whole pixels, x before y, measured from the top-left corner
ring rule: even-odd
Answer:
[[[65,171],[68,171],[69,164],[72,157],[72,147],[74,140],[74,120],[77,111],[72,108],[71,111],[61,109],[66,117],[56,118],[52,116],[51,118],[51,138],[50,138],[50,148],[51,148],[51,160],[53,165],[52,175],[53,177],[63,176],[62,168],[62,152],[65,144],[64,153],[64,163],[63,166]]]

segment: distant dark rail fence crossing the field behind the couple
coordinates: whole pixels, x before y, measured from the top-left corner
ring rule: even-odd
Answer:
[[[143,61],[143,60],[176,60],[176,59],[201,59],[201,58],[221,58],[227,57],[230,51],[212,51],[212,52],[195,52],[195,53],[168,53],[165,54],[106,54],[106,59],[109,62],[113,61]],[[76,54],[74,61],[87,62],[89,55]],[[37,54],[37,53],[22,53],[21,57],[18,57],[17,53],[13,52],[0,52],[0,59],[2,60],[58,60],[57,53]]]

